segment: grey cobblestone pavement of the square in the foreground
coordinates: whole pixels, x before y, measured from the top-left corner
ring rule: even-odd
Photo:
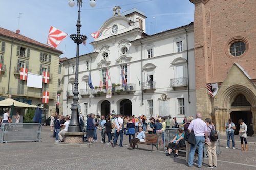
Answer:
[[[151,147],[139,145],[140,149],[127,150],[128,138],[124,135],[124,147],[113,148],[98,142],[89,148],[56,145],[49,126],[42,130],[42,142],[0,143],[0,169],[197,169],[186,166],[185,155],[167,157],[160,147],[159,152]],[[248,137],[249,151],[239,150],[240,139],[236,136],[238,149],[226,149],[226,136],[221,136],[221,154],[217,157],[217,169],[256,169],[256,138]],[[207,169],[204,158],[201,169]]]

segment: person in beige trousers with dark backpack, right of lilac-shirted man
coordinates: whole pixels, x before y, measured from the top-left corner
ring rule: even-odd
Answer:
[[[218,134],[210,118],[206,118],[205,123],[208,129],[208,138],[207,138],[207,141],[205,142],[205,146],[207,149],[208,159],[209,159],[209,164],[206,167],[214,168],[214,167],[217,167],[216,141],[218,139]],[[217,134],[217,137],[216,137],[216,134]]]

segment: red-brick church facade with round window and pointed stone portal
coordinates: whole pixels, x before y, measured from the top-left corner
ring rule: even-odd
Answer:
[[[255,1],[190,0],[195,4],[197,111],[210,117],[221,133],[229,118],[256,130]],[[218,83],[212,98],[207,83]]]

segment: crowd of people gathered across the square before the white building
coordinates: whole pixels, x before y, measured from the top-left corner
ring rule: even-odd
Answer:
[[[166,128],[178,128],[175,137],[168,143],[167,146],[167,156],[172,154],[174,151],[174,157],[178,157],[178,150],[182,147],[184,142],[184,147],[186,147],[186,162],[188,167],[191,167],[194,163],[195,152],[197,152],[198,162],[197,166],[200,168],[202,166],[203,159],[203,149],[207,150],[208,155],[208,165],[207,168],[217,167],[217,155],[216,155],[216,140],[211,138],[212,132],[215,132],[215,126],[210,118],[202,120],[202,114],[197,113],[194,119],[191,116],[184,117],[183,124],[179,126],[176,118],[168,117],[151,117],[147,119],[146,116],[141,115],[139,117],[135,116],[123,116],[121,114],[110,113],[109,115],[99,116],[93,113],[89,114],[85,119],[79,117],[79,120],[84,121],[84,131],[86,135],[84,136],[84,141],[97,142],[97,129],[102,136],[101,143],[106,145],[112,145],[112,147],[123,147],[123,135],[129,136],[129,148],[134,149],[137,142],[146,142],[145,132],[150,134],[157,134],[158,145],[162,145],[164,142],[164,133]],[[63,132],[68,130],[68,123],[70,118],[63,117],[63,115],[54,116],[54,127],[56,135],[56,142],[63,141]],[[246,140],[247,125],[243,120],[238,121],[240,125],[239,136],[241,138],[242,150],[248,151],[248,145]],[[184,126],[183,129],[179,127]],[[234,142],[234,132],[236,130],[236,125],[229,119],[224,125],[227,133],[227,147],[230,148],[230,137],[232,139],[232,148],[235,148]],[[190,137],[192,136],[192,137]],[[106,138],[108,137],[108,139]],[[119,143],[118,143],[119,138]],[[191,139],[190,139],[191,138]],[[243,145],[245,142],[245,146]]]

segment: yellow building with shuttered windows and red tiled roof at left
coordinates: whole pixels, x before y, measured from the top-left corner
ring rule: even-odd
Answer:
[[[0,28],[0,98],[13,98],[20,102],[44,104],[45,117],[56,110],[58,64],[61,51],[18,33]],[[42,88],[27,86],[27,80],[20,80],[20,68],[27,68],[34,75],[50,73],[49,83]],[[42,91],[49,91],[49,103],[42,102]],[[24,109],[16,109],[14,112]]]

